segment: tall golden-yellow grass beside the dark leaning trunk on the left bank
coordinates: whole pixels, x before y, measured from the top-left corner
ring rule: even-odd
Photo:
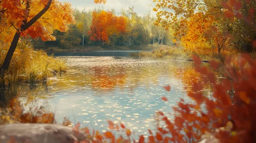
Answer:
[[[3,64],[9,49],[6,44],[0,45],[0,65]],[[17,81],[35,82],[65,72],[67,69],[63,59],[48,56],[44,51],[35,51],[30,41],[19,41],[13,54],[9,69],[5,73],[6,84]]]

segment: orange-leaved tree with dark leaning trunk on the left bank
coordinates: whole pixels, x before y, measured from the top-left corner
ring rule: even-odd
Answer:
[[[105,3],[105,0],[94,0],[95,3]],[[0,1],[1,41],[9,43],[10,48],[0,68],[3,77],[8,69],[12,55],[20,37],[55,40],[51,34],[54,29],[64,32],[68,25],[74,23],[72,8],[69,3],[56,0],[6,0]],[[54,18],[53,18],[54,16]]]

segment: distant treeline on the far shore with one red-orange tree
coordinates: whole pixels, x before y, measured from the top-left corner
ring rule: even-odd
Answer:
[[[32,39],[35,48],[76,49],[83,46],[127,46],[147,44],[173,44],[172,30],[154,25],[155,18],[150,12],[139,16],[133,7],[116,13],[114,10],[74,9],[74,25],[69,25],[67,32],[55,30],[55,41]]]

